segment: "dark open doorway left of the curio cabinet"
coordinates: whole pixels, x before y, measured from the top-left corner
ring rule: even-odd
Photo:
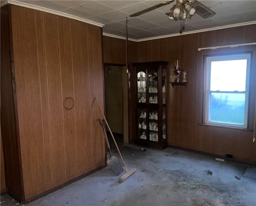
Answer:
[[[106,119],[116,140],[129,143],[128,73],[125,65],[104,64]]]

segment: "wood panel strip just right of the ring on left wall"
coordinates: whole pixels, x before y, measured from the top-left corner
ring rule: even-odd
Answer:
[[[72,54],[74,70],[74,100],[76,109],[76,138],[78,174],[82,175],[92,169],[96,154],[92,145],[94,134],[91,128],[90,76],[88,67],[87,26],[81,22],[71,21]],[[92,74],[93,75],[93,74]]]

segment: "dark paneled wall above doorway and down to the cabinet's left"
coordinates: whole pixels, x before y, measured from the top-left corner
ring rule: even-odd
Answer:
[[[103,36],[104,63],[126,65],[126,40]],[[129,142],[136,137],[136,96],[131,95],[136,92],[135,69],[133,62],[137,62],[137,43],[128,41],[128,84],[129,84]]]

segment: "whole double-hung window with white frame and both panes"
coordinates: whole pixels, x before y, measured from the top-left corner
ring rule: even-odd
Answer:
[[[205,57],[206,124],[247,128],[250,53]]]

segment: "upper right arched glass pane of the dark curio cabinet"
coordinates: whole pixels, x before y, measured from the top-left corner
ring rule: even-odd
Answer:
[[[150,72],[148,74],[148,102],[151,104],[158,103],[158,74],[156,72]]]

